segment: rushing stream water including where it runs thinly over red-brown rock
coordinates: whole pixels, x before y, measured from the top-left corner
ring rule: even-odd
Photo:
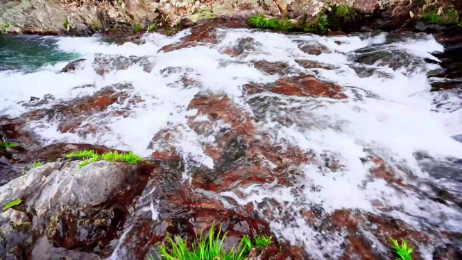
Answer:
[[[431,91],[446,80],[433,77],[443,71],[437,57],[445,51],[434,36],[216,28],[213,40],[178,47],[190,35],[190,29],[172,37],[148,33],[123,44],[97,36],[1,37],[0,119],[19,117],[41,146],[96,144],[146,158],[173,150],[185,162],[186,183],[195,182],[197,169],[228,171],[213,151],[250,162],[248,151],[239,155],[243,144],[282,150],[290,162],[271,182],[223,179],[214,182],[218,189],[194,191],[228,209],[254,205],[278,239],[312,259],[339,259],[345,234],[307,221],[308,209],[321,211],[319,218],[352,209],[402,220],[434,241],[420,247],[425,259],[451,240],[441,234],[462,233],[462,102],[456,89]],[[60,72],[76,58],[85,60]],[[108,86],[117,101],[105,109],[73,119],[34,114]],[[196,100],[210,103],[201,108]],[[234,145],[223,143],[228,132],[237,133]],[[251,158],[268,174],[277,172],[264,149]],[[257,174],[249,165],[243,171]],[[452,199],[438,200],[439,191]],[[160,207],[154,200],[147,210],[157,218]],[[373,232],[361,232],[385,252]]]

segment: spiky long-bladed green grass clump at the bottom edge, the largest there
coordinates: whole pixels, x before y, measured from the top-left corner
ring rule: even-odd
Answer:
[[[237,248],[233,247],[228,251],[223,248],[226,235],[227,232],[221,236],[221,229],[216,232],[214,225],[212,225],[208,236],[203,236],[203,232],[200,233],[200,237],[196,238],[196,241],[191,245],[192,250],[187,247],[187,241],[180,236],[176,236],[174,239],[167,236],[166,243],[160,245],[160,256],[166,260],[245,260],[246,255],[252,249],[250,239],[245,236]],[[149,259],[153,260],[154,258],[151,256]]]

